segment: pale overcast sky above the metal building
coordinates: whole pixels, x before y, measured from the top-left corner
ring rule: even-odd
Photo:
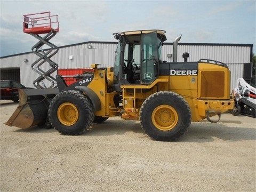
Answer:
[[[167,41],[253,44],[256,50],[256,1],[1,1],[0,56],[29,52],[37,42],[23,33],[23,15],[58,14],[57,46],[87,41],[116,41],[113,33],[166,30]]]

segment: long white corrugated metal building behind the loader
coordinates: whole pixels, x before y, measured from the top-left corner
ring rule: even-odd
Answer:
[[[117,42],[84,42],[61,46],[51,60],[58,63],[59,69],[90,68],[92,63],[99,63],[100,67],[113,67],[116,47]],[[178,61],[183,61],[182,54],[188,52],[188,61],[211,59],[227,63],[231,71],[230,87],[233,89],[237,78],[247,80],[252,75],[252,49],[252,44],[179,43]],[[173,43],[164,43],[163,60],[171,62],[172,52]],[[39,75],[31,70],[31,64],[37,59],[38,56],[32,52],[1,57],[1,79],[12,79],[33,87]],[[44,65],[45,68],[49,66],[47,62]]]

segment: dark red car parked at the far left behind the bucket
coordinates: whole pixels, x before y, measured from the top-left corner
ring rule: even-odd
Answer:
[[[17,81],[1,80],[1,100],[19,101],[19,89],[33,89],[25,87]]]

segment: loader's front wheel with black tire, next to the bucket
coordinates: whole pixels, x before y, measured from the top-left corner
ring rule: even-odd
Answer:
[[[90,99],[74,90],[57,94],[50,103],[48,114],[54,129],[64,135],[82,134],[94,119]]]

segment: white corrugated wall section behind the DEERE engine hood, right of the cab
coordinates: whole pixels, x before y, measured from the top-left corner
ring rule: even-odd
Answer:
[[[172,44],[167,44],[163,49],[163,58],[172,53]],[[237,78],[244,78],[244,63],[252,62],[252,45],[250,44],[188,44],[178,45],[178,62],[182,62],[182,54],[188,52],[188,61],[211,59],[226,63],[231,71],[230,91],[237,84]],[[172,58],[167,58],[171,62]],[[251,65],[252,66],[252,65]],[[251,70],[252,71],[252,70]],[[247,76],[252,76],[249,74]]]

